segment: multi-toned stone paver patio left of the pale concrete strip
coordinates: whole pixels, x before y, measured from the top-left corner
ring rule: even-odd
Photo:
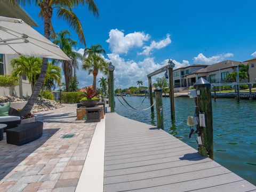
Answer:
[[[4,134],[0,141],[0,191],[75,191],[97,123],[75,121],[76,105],[36,116],[44,122],[41,138],[15,146]]]

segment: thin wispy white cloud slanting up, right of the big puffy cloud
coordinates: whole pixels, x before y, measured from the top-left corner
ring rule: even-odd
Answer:
[[[144,46],[143,51],[141,53],[138,53],[139,55],[149,55],[151,51],[154,49],[162,49],[163,47],[166,47],[171,43],[170,34],[166,35],[166,38],[162,39],[159,42],[152,41],[149,46]]]

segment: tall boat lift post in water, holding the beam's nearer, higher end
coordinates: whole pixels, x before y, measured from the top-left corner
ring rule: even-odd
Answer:
[[[171,106],[171,119],[175,119],[175,103],[174,103],[174,86],[173,86],[173,68],[175,63],[169,59],[169,97],[170,97],[170,106]]]

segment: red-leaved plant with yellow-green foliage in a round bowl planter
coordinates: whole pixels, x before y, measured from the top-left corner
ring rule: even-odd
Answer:
[[[83,98],[80,101],[85,107],[94,107],[100,102],[98,93],[92,87],[85,87]]]

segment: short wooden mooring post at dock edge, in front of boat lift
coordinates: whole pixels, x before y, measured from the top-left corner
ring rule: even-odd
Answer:
[[[162,89],[157,87],[157,89],[155,89],[155,99],[156,99],[157,127],[159,129],[164,129],[163,95],[162,94],[163,94]]]

